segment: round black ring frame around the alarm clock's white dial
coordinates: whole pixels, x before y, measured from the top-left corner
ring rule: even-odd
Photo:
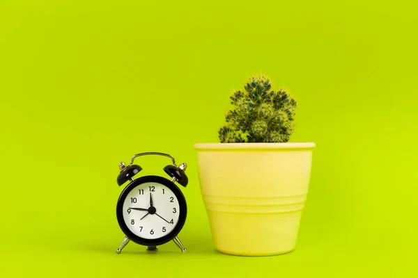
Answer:
[[[161,183],[164,186],[167,186],[173,194],[176,196],[178,200],[178,222],[176,224],[176,227],[169,232],[169,234],[163,236],[162,238],[155,238],[155,239],[148,239],[148,238],[141,238],[134,234],[125,224],[125,221],[123,220],[123,202],[125,202],[125,199],[127,195],[137,186],[139,186],[142,183],[147,182],[155,182],[155,183]],[[121,227],[123,234],[127,236],[130,240],[132,240],[134,243],[137,243],[139,245],[144,246],[157,246],[162,245],[164,243],[168,243],[170,240],[173,240],[178,233],[183,229],[183,226],[186,222],[186,216],[187,216],[187,204],[186,199],[183,193],[181,192],[180,188],[176,186],[175,183],[170,181],[169,179],[165,179],[164,177],[160,176],[144,176],[139,177],[138,179],[134,179],[134,181],[131,181],[122,191],[121,195],[119,196],[118,203],[116,205],[116,218],[118,219],[119,227]]]

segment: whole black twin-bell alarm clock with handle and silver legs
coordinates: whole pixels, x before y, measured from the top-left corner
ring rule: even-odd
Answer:
[[[164,167],[170,179],[155,175],[137,177],[142,167],[133,164],[134,159],[146,155],[171,158],[172,164]],[[121,172],[116,181],[118,186],[126,186],[116,204],[116,218],[125,238],[116,253],[120,254],[131,240],[148,247],[147,250],[157,250],[158,245],[172,240],[182,252],[186,251],[178,234],[185,224],[187,204],[176,185],[187,186],[186,167],[186,163],[177,166],[173,156],[161,152],[135,154],[129,165],[119,163]]]

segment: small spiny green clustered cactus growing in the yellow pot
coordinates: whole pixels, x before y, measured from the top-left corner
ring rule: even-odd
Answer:
[[[284,90],[272,90],[270,79],[254,76],[244,91],[230,96],[234,109],[225,115],[219,140],[233,142],[288,142],[294,129],[296,101]]]

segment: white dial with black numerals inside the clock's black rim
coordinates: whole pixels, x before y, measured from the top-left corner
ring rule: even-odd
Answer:
[[[178,223],[179,211],[176,195],[167,186],[156,182],[134,187],[123,202],[123,220],[127,228],[146,239],[169,234]]]

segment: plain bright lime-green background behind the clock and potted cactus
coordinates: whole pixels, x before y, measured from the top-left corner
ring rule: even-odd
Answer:
[[[414,1],[2,0],[0,276],[411,275],[416,15]],[[258,72],[298,100],[291,141],[317,147],[295,251],[229,256],[193,145],[217,142],[229,94]],[[187,253],[115,253],[117,165],[149,151],[189,165]]]

